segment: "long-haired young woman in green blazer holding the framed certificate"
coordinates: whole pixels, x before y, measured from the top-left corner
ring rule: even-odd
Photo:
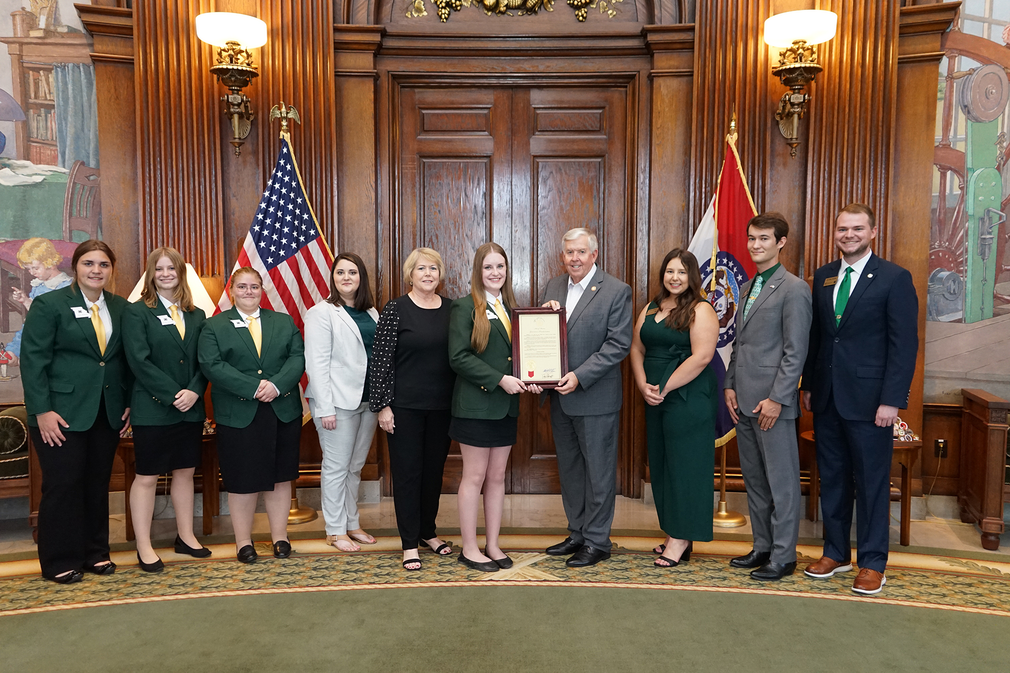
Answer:
[[[498,547],[505,505],[505,466],[515,444],[518,393],[539,394],[512,376],[512,324],[516,305],[512,274],[504,249],[484,244],[474,254],[470,294],[452,302],[449,316],[449,366],[457,373],[448,435],[460,443],[463,480],[458,501],[463,551],[468,568],[496,572],[512,559]],[[484,553],[477,545],[477,514],[484,490]]]

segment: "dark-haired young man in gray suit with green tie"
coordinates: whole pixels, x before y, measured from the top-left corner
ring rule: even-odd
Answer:
[[[723,384],[754,540],[751,552],[729,565],[755,568],[750,576],[760,580],[793,574],[800,530],[796,418],[812,308],[810,288],[779,262],[788,233],[789,223],[777,212],[747,223],[747,252],[758,275],[740,289],[736,341]]]

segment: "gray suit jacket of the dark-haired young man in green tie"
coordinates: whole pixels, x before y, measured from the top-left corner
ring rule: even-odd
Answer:
[[[782,404],[780,418],[796,418],[810,336],[810,288],[786,267],[779,267],[744,320],[743,307],[752,283],[753,279],[740,288],[736,341],[722,387],[736,391],[739,413],[745,416],[758,415],[753,408],[770,398]]]

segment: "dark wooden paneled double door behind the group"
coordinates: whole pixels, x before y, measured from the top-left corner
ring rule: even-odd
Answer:
[[[402,86],[397,262],[418,246],[438,251],[442,294],[454,299],[470,292],[477,248],[494,241],[529,306],[563,272],[562,234],[585,226],[600,238],[597,264],[627,280],[627,97],[623,86]],[[462,467],[453,443],[443,492],[457,491]],[[521,396],[506,489],[561,492],[549,402],[531,394]]]

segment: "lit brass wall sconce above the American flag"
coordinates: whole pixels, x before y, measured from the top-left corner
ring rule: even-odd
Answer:
[[[210,72],[231,92],[221,96],[224,116],[231,121],[232,146],[235,156],[249,134],[252,108],[242,93],[254,77],[258,77],[249,50],[267,43],[267,24],[255,16],[233,12],[206,12],[196,17],[196,36],[217,50],[217,63]]]

